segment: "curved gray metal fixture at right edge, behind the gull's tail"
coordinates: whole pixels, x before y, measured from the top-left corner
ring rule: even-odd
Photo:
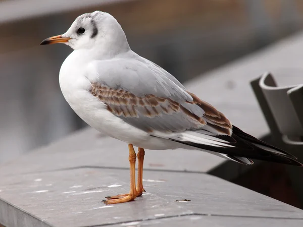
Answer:
[[[276,146],[303,160],[303,85],[279,87],[273,76],[265,73],[251,81],[251,86]],[[291,166],[286,169],[303,204],[303,169]]]

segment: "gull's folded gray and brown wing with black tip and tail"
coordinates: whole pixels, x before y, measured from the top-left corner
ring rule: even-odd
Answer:
[[[114,64],[114,65],[111,65]],[[299,165],[294,156],[252,137],[211,104],[186,91],[157,65],[144,61],[97,64],[99,79],[90,92],[106,103],[113,115],[164,138],[220,156],[252,164],[252,159]]]

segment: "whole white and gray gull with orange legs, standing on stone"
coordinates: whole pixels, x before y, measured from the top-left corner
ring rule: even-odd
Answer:
[[[74,49],[59,73],[71,108],[92,128],[128,144],[130,191],[106,197],[106,204],[133,201],[145,192],[144,149],[195,149],[246,165],[259,159],[302,166],[295,156],[232,125],[173,75],[132,51],[120,24],[108,13],[83,14],[64,34],[40,44],[53,43]]]

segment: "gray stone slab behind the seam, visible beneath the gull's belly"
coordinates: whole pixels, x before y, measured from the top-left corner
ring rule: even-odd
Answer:
[[[172,158],[173,157],[173,158]],[[207,160],[207,161],[206,161]],[[144,168],[208,172],[225,159],[195,150],[146,150]],[[15,166],[24,166],[16,168]],[[87,128],[0,167],[0,175],[79,166],[129,167],[128,146]],[[5,167],[5,168],[3,168]]]

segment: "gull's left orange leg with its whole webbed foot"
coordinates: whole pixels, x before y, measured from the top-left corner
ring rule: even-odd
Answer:
[[[115,203],[125,203],[133,201],[137,196],[138,192],[136,190],[136,152],[132,144],[128,144],[129,149],[129,165],[130,165],[130,190],[128,194],[110,196],[106,197],[107,200],[104,201],[105,204],[115,204]]]

